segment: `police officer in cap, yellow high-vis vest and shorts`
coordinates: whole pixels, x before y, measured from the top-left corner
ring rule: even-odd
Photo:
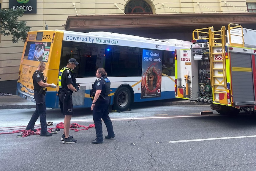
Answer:
[[[59,71],[59,104],[61,113],[64,118],[64,133],[61,136],[62,143],[70,144],[76,143],[77,140],[69,135],[70,120],[73,112],[72,92],[78,91],[80,88],[76,82],[75,74],[73,72],[76,65],[79,63],[75,58],[68,60],[67,66]]]

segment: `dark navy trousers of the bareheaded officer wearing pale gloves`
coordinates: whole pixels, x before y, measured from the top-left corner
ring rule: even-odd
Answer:
[[[26,129],[34,128],[34,125],[35,125],[38,117],[40,117],[41,134],[45,134],[45,133],[47,133],[45,95],[38,94],[38,92],[34,92],[34,98],[36,101],[36,110],[32,114],[32,117],[31,117]]]

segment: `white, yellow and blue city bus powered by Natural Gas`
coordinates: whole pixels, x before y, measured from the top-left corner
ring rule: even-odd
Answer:
[[[175,49],[190,42],[158,40],[111,32],[72,32],[41,30],[28,32],[19,68],[17,95],[34,100],[32,75],[45,62],[45,81],[58,85],[59,70],[75,58],[73,70],[80,90],[73,92],[73,106],[90,107],[90,90],[97,79],[97,68],[105,68],[111,81],[113,109],[125,111],[132,102],[175,98],[173,71]],[[162,73],[162,66],[169,73]],[[59,108],[57,88],[47,87],[46,107]]]

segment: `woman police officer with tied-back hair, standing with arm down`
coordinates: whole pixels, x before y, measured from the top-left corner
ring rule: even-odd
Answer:
[[[108,105],[110,104],[110,97],[108,96],[110,93],[110,81],[107,78],[105,69],[98,68],[96,77],[98,80],[94,82],[93,89],[91,91],[91,96],[93,97],[91,110],[93,110],[92,117],[97,137],[91,142],[93,144],[103,143],[101,119],[104,121],[108,130],[108,135],[105,138],[110,139],[116,137],[113,131],[112,122],[108,116]]]

